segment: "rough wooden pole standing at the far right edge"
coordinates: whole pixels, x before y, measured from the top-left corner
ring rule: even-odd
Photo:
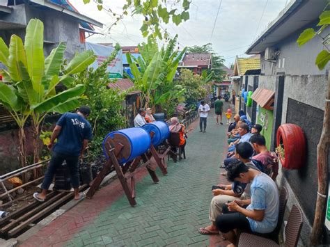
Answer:
[[[327,207],[327,186],[328,182],[328,150],[330,142],[330,73],[328,75],[327,97],[324,107],[323,128],[320,142],[317,145],[317,200],[315,217],[311,232],[311,246],[318,246],[322,237],[322,228]]]

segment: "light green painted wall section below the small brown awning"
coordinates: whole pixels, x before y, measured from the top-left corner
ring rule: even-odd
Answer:
[[[266,146],[268,149],[270,149],[273,128],[273,111],[263,109],[260,106],[257,107],[257,111],[257,123],[259,125],[262,125],[262,131],[260,132],[260,134],[262,134],[262,136],[265,136]]]

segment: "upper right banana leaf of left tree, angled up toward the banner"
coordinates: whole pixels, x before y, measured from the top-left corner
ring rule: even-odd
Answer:
[[[95,58],[96,56],[91,50],[81,52],[72,58],[68,67],[65,68],[64,74],[76,74],[86,70],[95,61]]]

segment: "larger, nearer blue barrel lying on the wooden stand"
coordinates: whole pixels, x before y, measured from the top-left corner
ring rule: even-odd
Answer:
[[[103,141],[104,156],[109,159],[107,154],[107,142],[116,145],[121,143],[124,147],[117,157],[120,164],[139,157],[150,148],[150,134],[142,128],[121,129],[107,134]]]

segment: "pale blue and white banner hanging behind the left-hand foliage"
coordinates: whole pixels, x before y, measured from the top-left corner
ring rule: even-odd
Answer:
[[[115,50],[113,47],[107,47],[105,45],[97,45],[90,42],[86,42],[86,50],[92,50],[97,56],[94,63],[90,65],[97,69]],[[109,63],[107,67],[109,72],[109,78],[123,78],[123,51],[120,49],[115,59]]]

